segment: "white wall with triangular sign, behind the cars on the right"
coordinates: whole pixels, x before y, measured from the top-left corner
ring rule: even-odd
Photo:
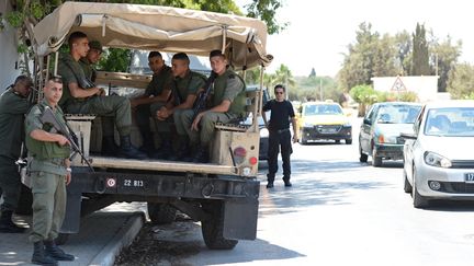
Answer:
[[[375,91],[396,93],[395,82],[398,77],[377,77],[372,78]],[[438,100],[438,76],[405,76],[399,77],[400,89],[415,92],[420,102]],[[399,85],[399,84],[398,84]]]

